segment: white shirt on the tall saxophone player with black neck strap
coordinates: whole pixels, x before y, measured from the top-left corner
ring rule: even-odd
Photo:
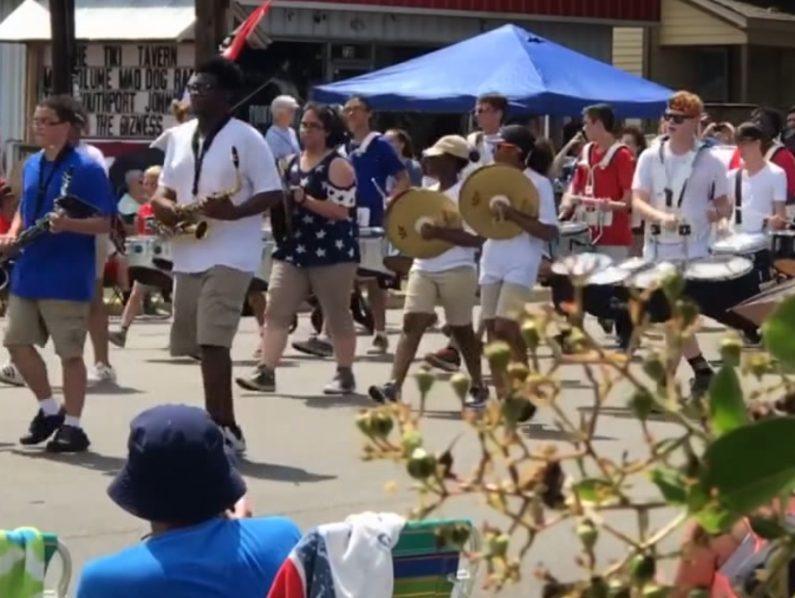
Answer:
[[[258,193],[282,189],[276,161],[265,139],[253,127],[233,118],[218,132],[204,156],[198,198],[194,198],[192,140],[197,125],[193,119],[170,130],[160,184],[176,192],[179,205],[234,186],[232,147],[237,148],[240,157],[242,181],[240,191],[232,196],[235,205]],[[253,274],[262,259],[262,214],[233,221],[207,220],[209,232],[204,239],[197,241],[188,235],[173,239],[174,271],[196,273],[227,266]]]

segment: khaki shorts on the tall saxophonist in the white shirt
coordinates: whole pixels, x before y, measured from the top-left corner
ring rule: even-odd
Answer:
[[[174,274],[171,355],[197,355],[199,347],[232,347],[251,273],[227,266]]]

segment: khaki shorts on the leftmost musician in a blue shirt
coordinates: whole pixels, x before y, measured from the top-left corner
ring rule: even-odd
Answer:
[[[26,299],[11,295],[3,344],[6,347],[43,347],[52,337],[58,357],[82,358],[90,307],[88,301]]]

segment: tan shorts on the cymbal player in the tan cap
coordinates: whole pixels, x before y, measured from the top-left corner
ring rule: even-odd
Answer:
[[[445,272],[412,270],[406,285],[407,314],[432,314],[437,305],[444,309],[450,326],[472,324],[472,309],[478,291],[478,274],[475,268],[462,266]]]

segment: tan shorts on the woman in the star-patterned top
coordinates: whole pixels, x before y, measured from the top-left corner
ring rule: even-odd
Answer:
[[[353,336],[351,291],[358,264],[333,264],[296,268],[287,262],[273,262],[268,281],[268,306],[265,325],[288,329],[303,301],[313,293],[323,310],[328,333],[333,336]]]

